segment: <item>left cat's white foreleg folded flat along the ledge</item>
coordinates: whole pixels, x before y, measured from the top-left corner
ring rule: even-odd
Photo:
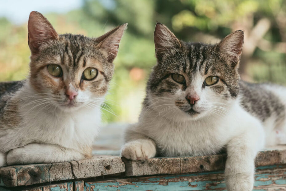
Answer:
[[[77,161],[85,155],[75,149],[52,144],[31,143],[10,150],[7,165]]]

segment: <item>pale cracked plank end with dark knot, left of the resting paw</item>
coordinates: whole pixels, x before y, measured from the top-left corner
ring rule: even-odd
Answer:
[[[71,161],[70,164],[76,179],[125,172],[124,162],[119,156],[95,155],[92,159]]]

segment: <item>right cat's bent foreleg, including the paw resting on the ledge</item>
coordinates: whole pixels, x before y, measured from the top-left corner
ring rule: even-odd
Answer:
[[[127,130],[125,135],[125,143],[121,150],[121,156],[130,160],[146,160],[156,155],[155,142],[137,132]]]

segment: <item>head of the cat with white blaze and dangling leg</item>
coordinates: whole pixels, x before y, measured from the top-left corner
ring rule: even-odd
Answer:
[[[157,64],[147,85],[147,106],[176,119],[223,116],[239,94],[243,38],[237,30],[214,45],[185,43],[157,23]]]

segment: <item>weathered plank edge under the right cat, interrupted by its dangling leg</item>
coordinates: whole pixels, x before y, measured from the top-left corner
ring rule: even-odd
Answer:
[[[129,161],[125,158],[126,176],[156,174],[182,174],[224,170],[226,154],[190,157],[156,157],[146,161]],[[286,146],[266,148],[258,153],[256,167],[286,164]]]

